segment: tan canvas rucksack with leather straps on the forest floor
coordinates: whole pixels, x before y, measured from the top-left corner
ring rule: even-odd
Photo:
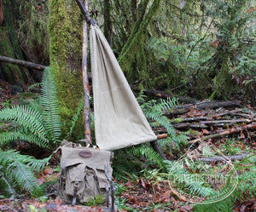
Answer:
[[[81,146],[63,140],[61,146],[61,176],[57,197],[64,203],[100,202],[114,211],[113,152]]]

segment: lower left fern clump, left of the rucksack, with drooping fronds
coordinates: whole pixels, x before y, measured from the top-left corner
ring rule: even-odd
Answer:
[[[5,198],[17,198],[20,191],[30,192],[32,197],[43,194],[43,187],[38,185],[35,175],[48,162],[49,158],[38,160],[21,155],[13,150],[1,151],[0,154],[0,191]]]

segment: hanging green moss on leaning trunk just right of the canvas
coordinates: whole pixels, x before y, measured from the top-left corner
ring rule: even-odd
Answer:
[[[150,83],[150,78],[154,76],[151,75],[152,72],[156,72],[153,65],[155,63],[154,54],[150,54],[147,49],[147,27],[160,8],[160,0],[154,0],[149,9],[148,4],[149,1],[143,2],[140,17],[118,58],[129,82],[134,82],[139,78],[143,82]],[[152,66],[148,66],[148,64],[152,64]]]

